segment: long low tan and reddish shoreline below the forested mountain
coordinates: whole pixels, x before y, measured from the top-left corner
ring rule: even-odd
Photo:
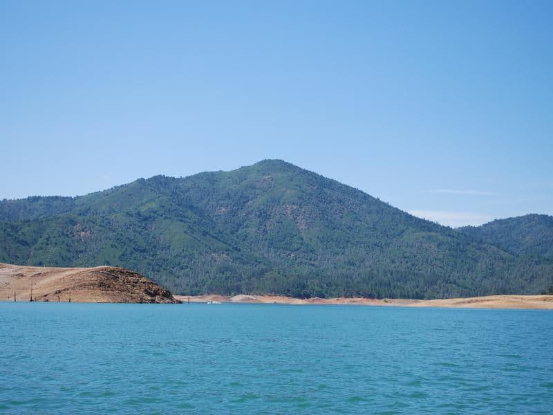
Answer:
[[[296,304],[296,305],[358,305],[443,308],[507,308],[553,310],[553,295],[487,295],[483,297],[448,299],[371,299],[362,297],[295,298],[283,295],[174,295],[183,303]]]

